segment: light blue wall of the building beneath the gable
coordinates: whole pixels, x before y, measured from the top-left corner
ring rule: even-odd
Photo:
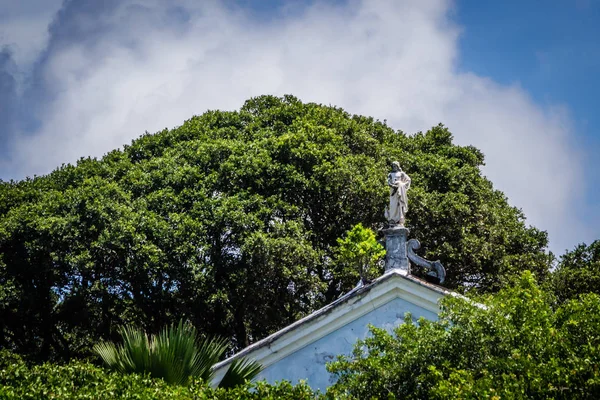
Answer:
[[[369,324],[391,330],[402,323],[406,312],[410,312],[414,319],[437,319],[435,313],[396,298],[270,365],[257,380],[266,379],[269,383],[275,383],[285,379],[297,383],[305,379],[313,389],[324,392],[333,383],[333,377],[325,369],[327,362],[337,355],[351,354],[356,341],[368,334]]]

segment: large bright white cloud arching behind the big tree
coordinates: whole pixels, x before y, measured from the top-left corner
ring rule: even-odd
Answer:
[[[16,177],[100,156],[207,109],[291,93],[405,132],[444,122],[459,143],[483,150],[485,173],[550,232],[555,250],[587,234],[573,207],[584,188],[569,117],[519,87],[457,72],[448,1],[316,4],[258,23],[181,0],[190,20],[174,26],[160,24],[167,2],[146,2],[144,18],[132,2],[104,16],[114,29],[93,46],[74,40],[50,55],[44,76],[58,96],[40,130],[16,143],[8,166]]]

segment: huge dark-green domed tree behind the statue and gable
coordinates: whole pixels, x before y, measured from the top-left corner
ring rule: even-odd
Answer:
[[[0,183],[0,347],[68,358],[116,339],[120,325],[157,332],[180,318],[246,346],[355,284],[337,239],[383,225],[393,160],[413,181],[411,235],[445,265],[448,287],[495,291],[516,269],[546,275],[546,234],[444,126],[408,136],[261,96]]]

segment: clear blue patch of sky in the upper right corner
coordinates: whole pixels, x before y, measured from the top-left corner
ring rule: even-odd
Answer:
[[[600,2],[461,0],[460,67],[564,103],[586,145],[600,143]]]

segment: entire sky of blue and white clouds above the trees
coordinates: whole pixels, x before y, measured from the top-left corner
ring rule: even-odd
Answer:
[[[599,0],[0,0],[0,179],[261,94],[439,122],[560,255],[600,239]]]

